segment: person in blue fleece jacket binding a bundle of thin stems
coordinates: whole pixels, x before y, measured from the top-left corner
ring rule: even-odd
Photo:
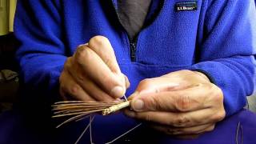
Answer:
[[[23,95],[85,102],[130,96],[129,118],[96,115],[96,143],[137,121],[196,137],[241,110],[253,92],[255,14],[252,0],[20,0],[14,33]]]

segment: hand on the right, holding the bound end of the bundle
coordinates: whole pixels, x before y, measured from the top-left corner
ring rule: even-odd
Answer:
[[[179,138],[214,130],[226,114],[222,90],[197,71],[145,79],[131,99],[133,110],[125,110],[126,115]]]

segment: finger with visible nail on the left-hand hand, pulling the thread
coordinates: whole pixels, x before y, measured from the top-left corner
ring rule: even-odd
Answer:
[[[73,66],[70,66],[68,70],[82,87],[87,87],[88,81],[92,81],[95,86],[114,98],[120,98],[125,93],[125,82],[122,82],[117,74],[111,72],[102,58],[90,47],[79,46],[71,61]]]

